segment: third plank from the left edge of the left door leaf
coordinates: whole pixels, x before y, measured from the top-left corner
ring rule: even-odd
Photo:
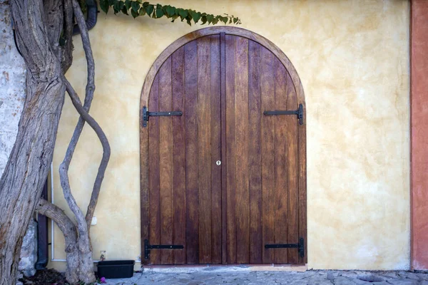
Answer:
[[[184,48],[172,55],[173,109],[184,112]],[[185,116],[185,115],[184,115]],[[185,244],[185,122],[173,116],[173,244]],[[185,263],[185,249],[173,250],[174,264]]]

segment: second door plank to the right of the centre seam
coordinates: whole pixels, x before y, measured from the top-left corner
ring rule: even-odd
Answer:
[[[235,43],[236,261],[250,261],[250,192],[248,188],[248,39]]]

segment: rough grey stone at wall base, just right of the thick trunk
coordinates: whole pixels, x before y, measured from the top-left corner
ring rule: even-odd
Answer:
[[[24,276],[33,276],[36,274],[34,264],[37,261],[37,222],[31,221],[26,231],[21,247],[21,259],[19,260],[18,270]]]

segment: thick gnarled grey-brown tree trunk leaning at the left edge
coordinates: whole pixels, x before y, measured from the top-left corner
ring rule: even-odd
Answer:
[[[41,0],[11,1],[16,41],[27,67],[26,100],[0,180],[0,284],[16,283],[22,238],[49,172],[66,87],[44,26]]]

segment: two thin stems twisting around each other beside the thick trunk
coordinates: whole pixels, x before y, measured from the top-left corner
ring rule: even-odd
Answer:
[[[66,1],[66,0],[64,0]],[[77,221],[77,246],[78,246],[78,257],[79,257],[79,276],[78,279],[84,281],[86,283],[91,283],[95,281],[95,276],[93,274],[93,258],[92,258],[92,247],[91,247],[91,239],[89,237],[91,219],[93,217],[93,212],[96,207],[96,202],[98,201],[98,195],[101,189],[101,183],[103,182],[104,174],[106,172],[106,167],[108,165],[108,160],[110,158],[110,145],[108,144],[108,140],[106,135],[103,133],[101,127],[96,123],[91,115],[88,114],[88,110],[91,107],[91,102],[93,99],[93,92],[95,90],[95,65],[93,61],[93,55],[91,51],[91,43],[89,41],[88,36],[88,28],[86,26],[86,21],[83,17],[83,13],[81,11],[80,6],[76,0],[71,0],[73,5],[74,15],[76,16],[77,24],[81,31],[81,38],[83,43],[83,49],[86,55],[86,61],[88,66],[88,81],[86,84],[86,95],[85,95],[85,103],[82,105],[80,98],[78,97],[76,91],[73,89],[71,84],[66,80],[65,76],[61,76],[61,79],[66,85],[66,91],[71,98],[71,102],[74,107],[78,111],[80,118],[74,129],[73,136],[66,150],[66,155],[61,162],[59,167],[59,175],[61,180],[61,187],[63,188],[63,194],[68,203],[68,207],[70,207],[71,211],[76,217]],[[83,212],[78,207],[76,203],[76,199],[74,199],[71,194],[70,182],[68,180],[68,168],[71,163],[71,159],[73,158],[73,153],[76,150],[76,145],[78,139],[80,138],[81,132],[83,130],[83,125],[85,122],[93,128],[98,139],[101,141],[101,145],[103,147],[103,157],[101,158],[100,166],[98,167],[98,173],[96,176],[96,180],[93,185],[93,190],[91,194],[91,201],[88,205],[88,211],[86,217],[83,215]]]

